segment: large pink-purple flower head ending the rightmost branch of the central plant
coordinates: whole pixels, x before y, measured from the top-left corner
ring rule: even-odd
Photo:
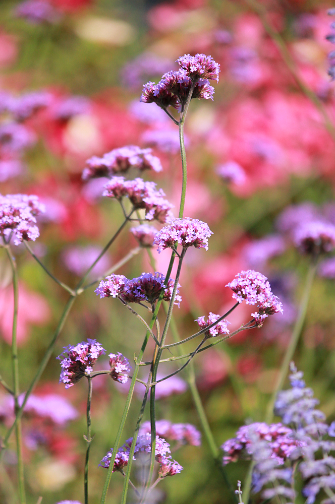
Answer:
[[[258,312],[251,313],[251,316],[254,317],[255,324],[259,327],[269,315],[279,311],[283,313],[282,303],[272,293],[267,278],[257,271],[241,271],[226,287],[232,289],[233,298],[239,303],[245,300],[247,304],[258,305]]]

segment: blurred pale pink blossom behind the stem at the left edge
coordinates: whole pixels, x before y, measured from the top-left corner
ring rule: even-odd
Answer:
[[[7,287],[0,290],[0,332],[3,339],[11,344],[13,329],[13,288]],[[29,337],[31,325],[40,326],[48,322],[50,309],[41,294],[28,291],[26,287],[19,284],[19,313],[17,339],[18,344],[22,344]]]

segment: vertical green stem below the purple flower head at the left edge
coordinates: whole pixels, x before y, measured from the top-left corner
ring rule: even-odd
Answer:
[[[13,274],[13,296],[14,296],[14,312],[13,312],[13,329],[12,329],[12,369],[13,369],[13,391],[14,391],[14,413],[17,415],[20,409],[19,395],[19,360],[18,360],[18,345],[17,345],[17,326],[18,326],[18,310],[19,310],[19,278],[16,267],[16,261],[12,255],[10,245],[6,247],[6,253],[11,264]],[[19,483],[19,496],[21,504],[26,503],[26,494],[24,488],[24,468],[22,459],[22,431],[21,420],[15,425],[16,435],[16,450],[18,457],[18,483]]]

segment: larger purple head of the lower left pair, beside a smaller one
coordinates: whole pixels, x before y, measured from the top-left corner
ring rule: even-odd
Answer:
[[[83,376],[92,372],[97,358],[105,352],[100,343],[90,339],[78,343],[76,346],[64,347],[64,352],[57,357],[62,366],[60,382],[63,382],[65,388],[69,389]]]

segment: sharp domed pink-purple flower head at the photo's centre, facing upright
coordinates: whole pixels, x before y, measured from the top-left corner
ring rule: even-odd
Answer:
[[[206,222],[186,217],[175,219],[171,224],[163,227],[157,233],[154,244],[158,245],[159,253],[165,248],[175,248],[176,243],[184,248],[194,246],[208,250],[208,238],[211,234],[213,232]]]

